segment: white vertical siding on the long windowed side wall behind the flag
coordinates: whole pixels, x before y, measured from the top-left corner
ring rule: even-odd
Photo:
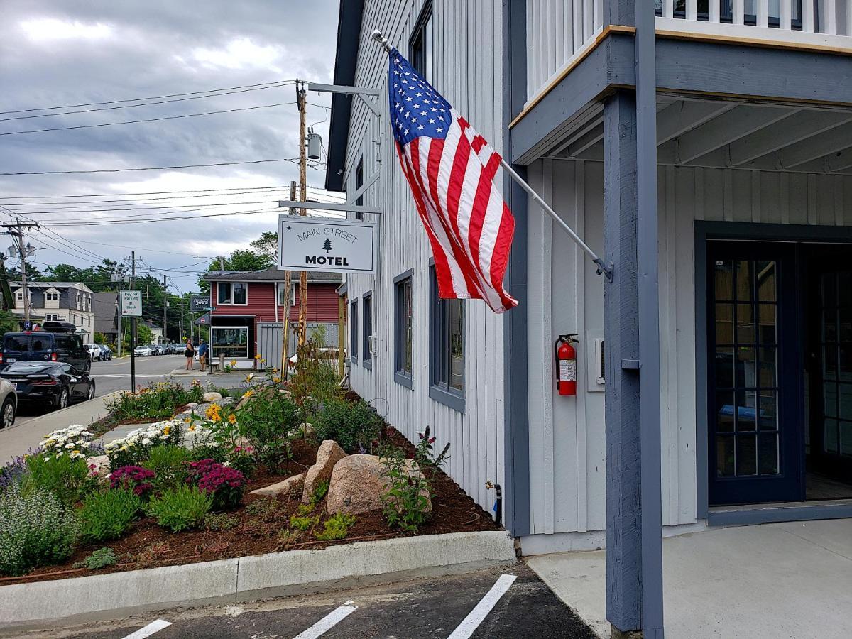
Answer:
[[[447,473],[486,509],[494,493],[485,483],[503,483],[503,318],[484,302],[465,302],[464,379],[465,410],[457,412],[429,398],[429,241],[417,216],[409,187],[402,176],[390,135],[387,115],[387,55],[370,37],[380,29],[389,41],[408,55],[408,41],[423,2],[368,0],[360,32],[355,84],[382,90],[380,147],[373,144],[373,122],[366,107],[353,102],[347,147],[345,183],[354,190],[354,168],[364,157],[364,178],[379,168],[381,177],[365,195],[383,215],[366,214],[378,225],[378,260],[372,276],[347,278],[348,300],[359,300],[359,330],[363,336],[363,295],[372,291],[372,329],[377,354],[372,370],[363,362],[363,337],[359,356],[351,366],[352,388],[371,400],[389,423],[409,440],[428,424],[437,438],[435,448],[451,444]],[[435,88],[458,112],[501,148],[502,35],[500,4],[489,0],[435,0],[433,3]],[[472,81],[475,78],[475,81]],[[377,163],[377,152],[381,164]],[[499,177],[498,177],[499,180]],[[350,214],[349,216],[353,216]],[[412,389],[394,382],[394,277],[413,270]],[[347,336],[348,338],[348,336]]]

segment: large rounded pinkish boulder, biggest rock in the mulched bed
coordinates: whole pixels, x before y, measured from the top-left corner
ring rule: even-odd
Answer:
[[[420,479],[419,470],[412,469],[412,461],[406,462],[408,475]],[[331,472],[331,484],[325,509],[330,515],[347,513],[358,515],[383,508],[382,495],[387,492],[389,479],[383,477],[383,465],[377,455],[348,455],[335,464]],[[428,491],[423,491],[427,500],[426,512],[432,510]]]

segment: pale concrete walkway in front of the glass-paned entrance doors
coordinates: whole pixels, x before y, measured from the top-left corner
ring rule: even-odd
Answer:
[[[533,556],[529,567],[608,637],[606,551]],[[665,636],[849,637],[852,519],[714,528],[663,540]]]

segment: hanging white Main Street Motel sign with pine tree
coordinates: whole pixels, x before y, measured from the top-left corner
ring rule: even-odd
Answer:
[[[278,268],[287,271],[372,273],[376,225],[333,217],[281,215]]]

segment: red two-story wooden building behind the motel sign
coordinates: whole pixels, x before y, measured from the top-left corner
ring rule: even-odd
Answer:
[[[210,355],[226,360],[250,362],[256,354],[268,361],[280,353],[281,324],[285,313],[299,320],[299,277],[293,273],[291,290],[285,290],[285,272],[211,271]],[[308,271],[308,328],[325,326],[326,340],[337,344],[337,286],[340,273]],[[269,356],[268,356],[269,355]]]

